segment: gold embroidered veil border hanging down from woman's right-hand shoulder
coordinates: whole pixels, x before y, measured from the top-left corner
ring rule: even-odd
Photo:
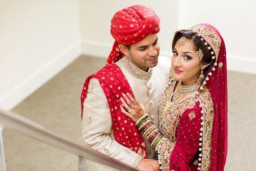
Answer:
[[[203,153],[201,170],[209,170],[211,155],[211,133],[214,122],[214,106],[209,91],[204,88],[198,100],[203,110]]]

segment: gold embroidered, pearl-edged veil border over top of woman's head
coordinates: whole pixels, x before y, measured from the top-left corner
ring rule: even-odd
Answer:
[[[216,56],[212,56],[212,59],[218,58],[219,52],[220,52],[220,47],[221,47],[221,38],[220,36],[212,29],[203,26],[203,25],[196,25],[191,27],[189,30],[194,31],[198,33],[198,36],[202,37],[206,42],[205,46],[207,46],[207,43],[210,45],[208,49],[212,48],[216,54]],[[203,40],[201,38],[201,40]],[[212,51],[211,54],[214,55],[214,52]]]

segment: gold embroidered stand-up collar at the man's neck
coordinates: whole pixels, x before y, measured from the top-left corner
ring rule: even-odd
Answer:
[[[123,57],[122,60],[124,67],[127,69],[127,71],[132,74],[134,77],[139,78],[139,79],[150,79],[152,76],[152,68],[148,70],[148,72],[145,72],[138,67],[136,67],[126,56]]]

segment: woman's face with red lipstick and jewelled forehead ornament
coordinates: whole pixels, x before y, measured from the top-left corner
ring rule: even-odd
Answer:
[[[180,38],[174,47],[172,70],[174,78],[184,85],[197,82],[201,73],[200,57],[191,39]]]

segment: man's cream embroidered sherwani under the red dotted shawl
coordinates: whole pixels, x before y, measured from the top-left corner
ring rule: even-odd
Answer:
[[[117,61],[116,65],[129,82],[135,99],[144,105],[145,112],[158,126],[158,106],[169,78],[170,59],[159,56],[158,65],[148,72],[137,68],[127,57]],[[96,78],[90,79],[87,98],[84,101],[82,139],[92,149],[131,166],[137,167],[142,159],[137,153],[115,141],[109,104]],[[156,159],[156,153],[148,142],[146,147],[148,158]],[[91,161],[87,161],[87,167],[88,170],[113,170]]]

